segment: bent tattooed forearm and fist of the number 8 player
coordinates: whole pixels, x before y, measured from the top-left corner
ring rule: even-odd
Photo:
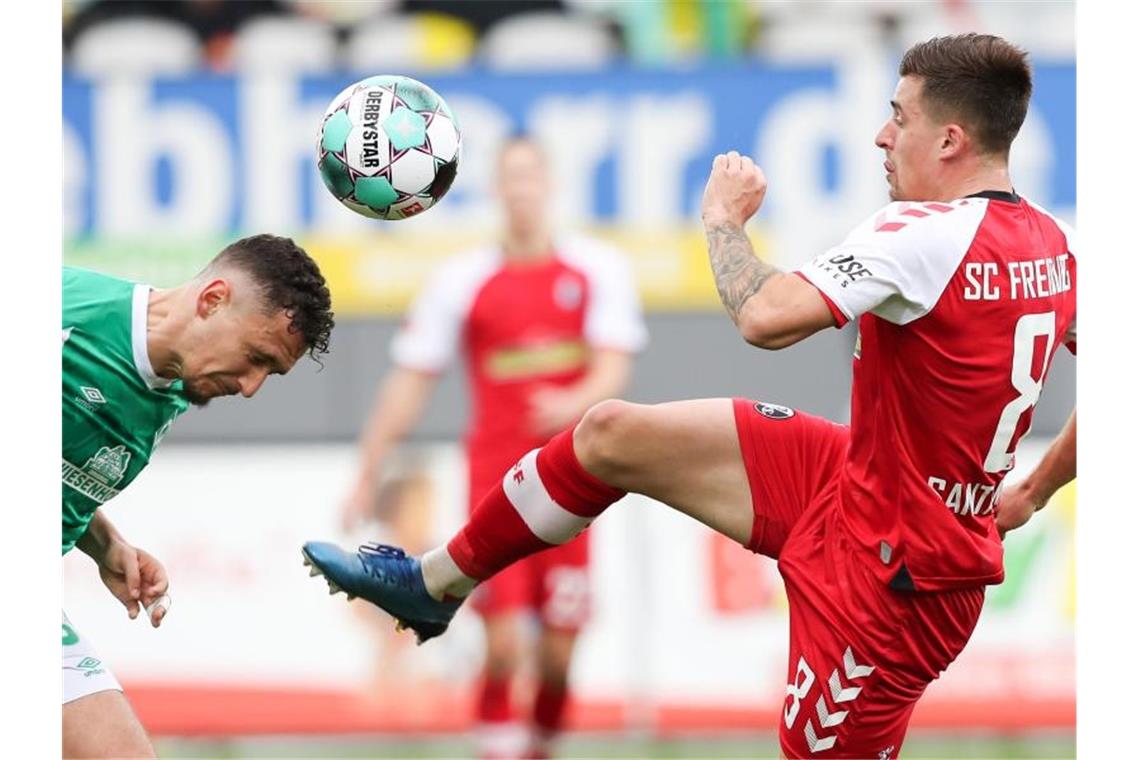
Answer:
[[[735,150],[718,155],[705,186],[701,220],[720,302],[741,336],[762,349],[783,349],[836,325],[820,292],[757,258],[744,223],[759,210],[767,179]]]

